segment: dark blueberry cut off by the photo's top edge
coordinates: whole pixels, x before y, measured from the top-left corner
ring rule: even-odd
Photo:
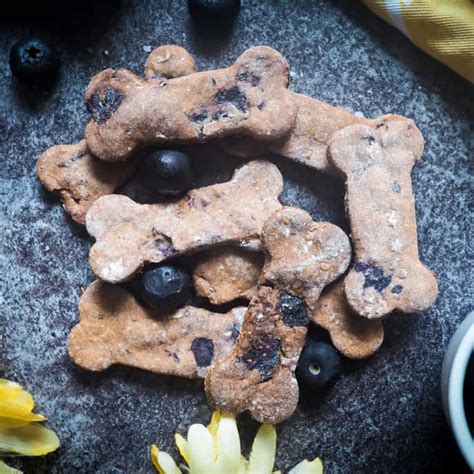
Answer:
[[[233,23],[240,0],[188,0],[188,7],[197,25],[217,29]]]

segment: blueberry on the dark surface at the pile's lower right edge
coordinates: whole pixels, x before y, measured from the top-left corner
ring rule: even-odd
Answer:
[[[342,361],[330,344],[312,339],[306,341],[296,367],[296,376],[301,383],[315,389],[328,387],[341,372]]]

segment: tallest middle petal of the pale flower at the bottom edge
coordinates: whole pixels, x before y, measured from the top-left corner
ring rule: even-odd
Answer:
[[[223,413],[217,428],[217,460],[215,472],[232,472],[239,470],[240,437],[235,416]]]

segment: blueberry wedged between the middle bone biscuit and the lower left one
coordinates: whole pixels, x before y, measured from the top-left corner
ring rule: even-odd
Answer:
[[[148,267],[134,282],[133,289],[150,308],[168,312],[186,303],[191,280],[188,273],[179,267]]]

